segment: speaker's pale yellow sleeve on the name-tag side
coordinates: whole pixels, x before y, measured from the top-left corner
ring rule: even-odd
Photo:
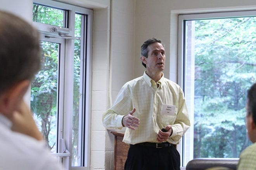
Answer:
[[[182,89],[179,88],[178,96],[178,113],[174,124],[172,125],[173,133],[170,136],[171,143],[178,144],[180,138],[185,134],[187,129],[190,127],[189,114],[187,110],[187,105],[185,102],[185,97]]]

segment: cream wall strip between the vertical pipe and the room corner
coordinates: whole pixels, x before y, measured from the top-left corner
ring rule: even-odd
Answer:
[[[134,78],[134,0],[112,1],[112,99],[124,83]]]

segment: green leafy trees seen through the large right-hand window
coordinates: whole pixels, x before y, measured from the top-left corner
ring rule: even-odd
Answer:
[[[195,21],[194,158],[237,158],[256,82],[256,17]]]

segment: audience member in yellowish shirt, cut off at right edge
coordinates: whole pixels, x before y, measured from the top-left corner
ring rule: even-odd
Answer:
[[[256,170],[256,83],[248,90],[246,104],[246,129],[253,145],[239,156],[238,170]]]

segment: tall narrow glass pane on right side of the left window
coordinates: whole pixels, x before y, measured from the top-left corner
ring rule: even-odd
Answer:
[[[75,14],[75,36],[81,37],[83,15]],[[81,166],[82,160],[82,122],[83,122],[83,53],[81,40],[74,40],[74,95],[73,95],[73,132],[72,166]]]

